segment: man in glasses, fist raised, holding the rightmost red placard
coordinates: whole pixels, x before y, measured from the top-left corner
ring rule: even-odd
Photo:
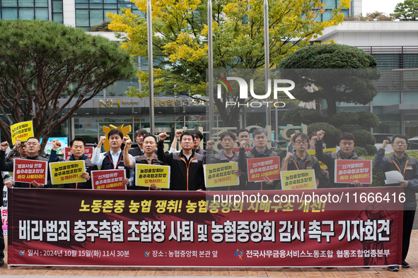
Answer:
[[[317,140],[315,143],[315,154],[316,158],[327,165],[328,173],[330,174],[330,187],[331,188],[343,188],[343,187],[363,187],[363,184],[359,181],[354,183],[334,183],[334,169],[335,160],[337,159],[353,159],[353,160],[364,160],[358,157],[354,152],[354,135],[352,133],[343,132],[339,135],[339,151],[329,154],[323,153],[323,137],[325,131],[318,131],[316,133]]]

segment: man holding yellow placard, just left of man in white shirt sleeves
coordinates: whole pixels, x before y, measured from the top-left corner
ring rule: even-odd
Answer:
[[[76,137],[70,141],[69,146],[71,147],[71,157],[68,161],[84,160],[86,171],[81,173],[81,178],[86,179],[85,182],[81,183],[64,183],[64,188],[76,188],[76,189],[91,189],[91,171],[98,170],[98,167],[91,163],[87,155],[84,155],[84,149],[86,148],[86,140],[82,137]],[[57,157],[57,149],[61,147],[58,139],[52,140],[52,149],[50,154],[50,163],[64,161],[60,157]]]

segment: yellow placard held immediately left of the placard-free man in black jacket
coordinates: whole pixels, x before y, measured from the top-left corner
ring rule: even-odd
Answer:
[[[170,166],[137,164],[135,176],[137,186],[150,187],[155,183],[159,188],[170,188]]]

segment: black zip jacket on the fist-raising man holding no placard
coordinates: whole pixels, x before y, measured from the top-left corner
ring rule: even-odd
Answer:
[[[158,159],[170,165],[170,190],[197,191],[204,190],[203,155],[192,150],[192,156],[187,160],[183,151],[174,154],[164,154],[163,142],[157,146]]]

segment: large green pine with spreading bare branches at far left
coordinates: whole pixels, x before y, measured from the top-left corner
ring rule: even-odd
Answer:
[[[0,20],[0,128],[33,121],[41,150],[84,103],[136,72],[117,42],[51,21]]]

